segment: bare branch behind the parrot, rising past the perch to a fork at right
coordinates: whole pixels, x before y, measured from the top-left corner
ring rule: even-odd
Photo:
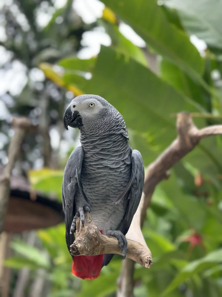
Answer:
[[[146,211],[149,207],[156,185],[163,179],[169,177],[168,170],[180,161],[186,154],[192,151],[202,138],[222,134],[222,125],[214,125],[198,129],[194,125],[189,113],[177,114],[176,127],[178,133],[177,138],[154,162],[148,166],[146,170],[143,189],[144,193],[141,197],[136,214],[133,217],[130,229],[126,234],[127,238],[136,240],[142,244],[144,244],[145,241],[141,232],[141,227],[146,217]],[[129,286],[130,283],[133,283],[133,268],[134,266],[132,264],[132,260],[125,259],[123,261],[122,272],[118,281],[118,297],[133,296],[133,286]]]

